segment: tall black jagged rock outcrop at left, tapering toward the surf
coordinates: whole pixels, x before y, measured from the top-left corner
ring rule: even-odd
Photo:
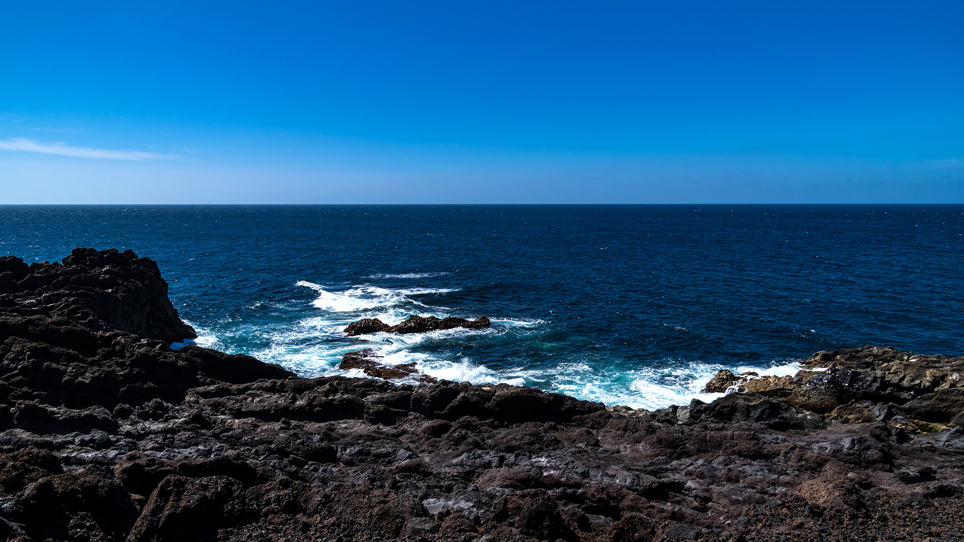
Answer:
[[[171,349],[194,330],[174,311],[157,265],[130,251],[76,249],[63,264],[29,267],[4,257],[0,268],[0,429],[116,431],[116,414],[151,400],[294,376],[249,356]]]

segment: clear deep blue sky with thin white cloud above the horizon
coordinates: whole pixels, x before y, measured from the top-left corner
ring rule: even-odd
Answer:
[[[964,203],[964,2],[4,2],[0,203]]]

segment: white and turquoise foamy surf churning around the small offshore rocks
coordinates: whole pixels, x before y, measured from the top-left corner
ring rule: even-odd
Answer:
[[[257,329],[254,326],[225,322],[215,330],[198,328],[201,346],[229,352],[246,353],[268,363],[276,363],[302,376],[345,375],[364,377],[359,369],[338,368],[342,356],[362,348],[372,348],[388,365],[415,363],[419,372],[439,379],[472,384],[534,386],[549,392],[566,393],[580,399],[600,401],[606,405],[627,405],[656,410],[671,404],[685,405],[697,398],[711,401],[723,393],[700,393],[716,372],[717,364],[683,360],[659,360],[653,366],[620,369],[609,360],[579,360],[567,355],[558,344],[540,342],[542,319],[493,319],[493,327],[483,330],[456,328],[423,334],[394,335],[377,333],[347,339],[344,328],[360,317],[377,317],[394,325],[412,313],[448,315],[438,307],[420,304],[409,296],[457,291],[456,288],[413,287],[391,289],[375,285],[354,285],[337,291],[299,281],[297,285],[315,290],[318,297],[311,302],[317,312],[283,327]],[[334,288],[333,288],[334,289]],[[278,309],[284,310],[280,306]],[[299,310],[288,306],[287,310]],[[303,310],[302,310],[303,311]],[[197,328],[197,326],[196,326]],[[559,357],[554,366],[487,366],[463,354],[460,344],[471,337],[491,336],[498,340],[525,340],[539,344]],[[478,339],[474,339],[478,340]],[[484,339],[488,341],[489,339]],[[247,345],[247,346],[246,346]],[[431,353],[429,353],[431,352]],[[795,374],[798,364],[778,361],[769,366],[740,366],[735,372],[756,371],[761,375]],[[401,382],[415,383],[415,377]]]

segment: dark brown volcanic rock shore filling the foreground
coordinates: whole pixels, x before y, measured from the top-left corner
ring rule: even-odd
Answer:
[[[193,336],[146,257],[0,258],[0,539],[964,539],[961,358],[821,352],[647,412]]]

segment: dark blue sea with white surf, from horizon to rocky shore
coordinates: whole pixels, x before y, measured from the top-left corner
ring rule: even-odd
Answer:
[[[197,343],[306,376],[373,347],[449,380],[656,408],[721,367],[964,353],[959,204],[8,205],[0,228],[0,255],[28,262],[151,257]],[[493,326],[341,332],[413,313]]]

